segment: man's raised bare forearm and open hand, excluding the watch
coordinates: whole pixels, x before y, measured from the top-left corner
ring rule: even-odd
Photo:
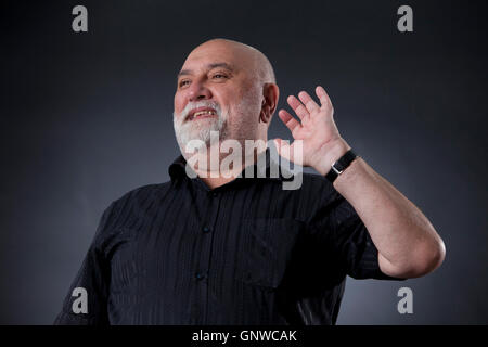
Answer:
[[[311,166],[325,176],[331,165],[350,146],[339,136],[333,119],[331,100],[322,87],[317,87],[319,106],[308,93],[288,97],[288,104],[300,119],[281,110],[281,120],[295,140],[303,141],[303,156],[277,139],[280,154],[299,165]],[[422,211],[376,174],[362,158],[355,159],[334,181],[334,188],[355,208],[378,250],[382,272],[396,278],[424,275],[444,261],[442,240]]]

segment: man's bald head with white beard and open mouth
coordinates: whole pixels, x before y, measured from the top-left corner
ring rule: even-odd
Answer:
[[[224,39],[196,47],[178,74],[174,125],[182,152],[190,140],[267,141],[279,89],[268,59],[255,48]]]

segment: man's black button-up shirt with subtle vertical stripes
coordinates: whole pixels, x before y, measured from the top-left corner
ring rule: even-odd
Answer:
[[[283,190],[281,175],[244,174],[210,190],[184,165],[106,208],[55,324],[334,324],[347,274],[399,280],[325,178]]]

